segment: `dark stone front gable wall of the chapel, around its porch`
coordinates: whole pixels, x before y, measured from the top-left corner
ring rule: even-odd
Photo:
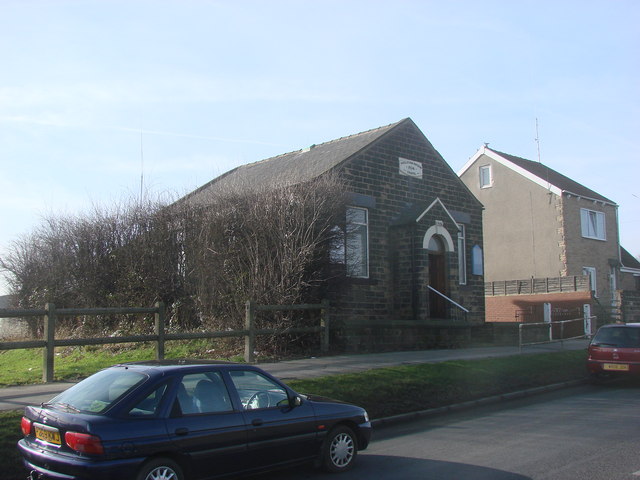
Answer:
[[[400,158],[419,162],[423,177],[399,174]],[[345,341],[354,348],[360,348],[360,344],[383,348],[389,343],[423,343],[415,332],[391,334],[375,325],[396,320],[430,320],[424,313],[428,254],[422,246],[429,225],[416,225],[421,213],[418,210],[413,224],[403,224],[402,216],[411,209],[426,209],[436,199],[450,212],[461,212],[467,219],[468,282],[465,286],[459,285],[457,253],[447,253],[449,296],[471,310],[476,318],[483,317],[484,279],[471,274],[471,248],[482,246],[481,206],[415,125],[408,122],[392,130],[345,162],[339,172],[351,192],[366,199],[369,212],[369,278],[347,278],[330,292],[331,304],[336,307],[332,322],[335,321],[338,328],[363,323],[370,326],[350,329]],[[443,211],[438,215],[454,242],[457,241],[455,223]],[[354,331],[360,332],[365,340],[357,340]],[[427,337],[429,335],[427,333]]]

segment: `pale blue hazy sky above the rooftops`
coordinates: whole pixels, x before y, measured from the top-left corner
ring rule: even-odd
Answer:
[[[406,117],[454,171],[539,151],[639,256],[639,23],[637,0],[0,0],[0,256],[45,216]]]

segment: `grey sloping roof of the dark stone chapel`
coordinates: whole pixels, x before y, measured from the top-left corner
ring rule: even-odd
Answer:
[[[249,188],[265,182],[295,185],[312,180],[407,122],[413,123],[410,118],[405,118],[384,127],[312,145],[309,148],[267,158],[259,162],[241,165],[191,192],[185,199],[193,196],[206,196],[206,192],[210,189],[218,189],[226,185],[240,185],[244,188]]]

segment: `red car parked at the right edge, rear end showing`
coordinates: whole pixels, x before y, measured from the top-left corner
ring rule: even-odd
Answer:
[[[593,381],[640,377],[640,323],[604,325],[589,344],[587,370]]]

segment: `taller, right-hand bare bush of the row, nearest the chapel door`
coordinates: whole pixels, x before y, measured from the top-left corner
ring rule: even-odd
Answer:
[[[198,312],[218,328],[241,328],[249,299],[319,301],[333,227],[344,222],[344,191],[327,176],[312,184],[225,188],[183,206],[184,271]]]

